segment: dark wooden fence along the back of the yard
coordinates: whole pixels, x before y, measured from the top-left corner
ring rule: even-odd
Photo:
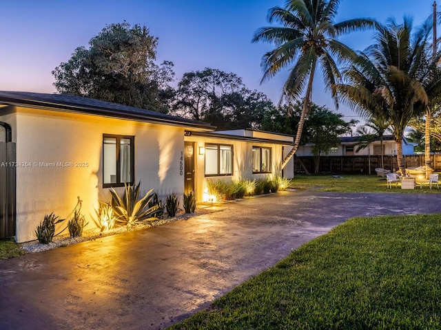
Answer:
[[[314,173],[316,160],[314,156],[294,158],[294,173],[305,173],[305,169],[300,165],[300,161],[305,165],[309,173]],[[398,170],[396,156],[383,156],[384,168],[387,170]],[[424,155],[406,155],[404,156],[406,167],[423,166]],[[381,167],[381,156],[371,156],[371,174],[375,174],[375,168]],[[431,168],[435,171],[441,171],[441,155],[431,155]],[[320,173],[336,174],[367,174],[369,173],[368,156],[320,156]]]

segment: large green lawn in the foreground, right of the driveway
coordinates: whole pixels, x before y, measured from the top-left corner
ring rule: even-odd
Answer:
[[[439,215],[351,219],[170,329],[441,329]]]

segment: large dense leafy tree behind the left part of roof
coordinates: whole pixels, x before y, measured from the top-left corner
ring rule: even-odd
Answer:
[[[157,43],[145,26],[107,25],[89,48],[76,48],[68,62],[52,71],[54,87],[61,94],[165,112],[173,96],[173,63],[155,64]]]

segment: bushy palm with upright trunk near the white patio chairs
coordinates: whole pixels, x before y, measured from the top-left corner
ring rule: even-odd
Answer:
[[[404,129],[428,104],[424,86],[431,72],[437,70],[428,41],[430,30],[426,23],[413,33],[409,17],[404,17],[402,24],[389,19],[386,25],[378,27],[376,42],[345,71],[347,85],[338,87],[340,96],[353,109],[373,115],[381,113],[389,120],[402,174]]]

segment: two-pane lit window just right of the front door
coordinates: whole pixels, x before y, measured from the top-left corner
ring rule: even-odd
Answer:
[[[205,144],[205,176],[233,175],[233,146]]]

